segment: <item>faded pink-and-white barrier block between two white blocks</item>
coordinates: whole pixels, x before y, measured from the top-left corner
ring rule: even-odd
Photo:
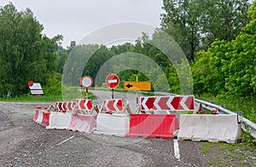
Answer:
[[[80,131],[85,133],[91,133],[96,128],[96,123],[91,115],[73,114],[71,123],[67,130]]]

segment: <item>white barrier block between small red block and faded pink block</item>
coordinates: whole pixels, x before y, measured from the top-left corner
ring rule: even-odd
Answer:
[[[71,123],[72,112],[51,112],[49,114],[49,125],[46,129],[67,130]]]

